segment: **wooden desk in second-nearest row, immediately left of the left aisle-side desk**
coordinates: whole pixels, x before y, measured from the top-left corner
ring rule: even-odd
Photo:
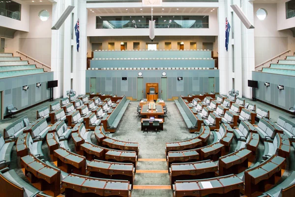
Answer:
[[[74,173],[86,175],[87,163],[85,157],[64,148],[55,150],[53,156],[58,160],[58,167],[64,166],[67,173],[71,173],[73,170]]]

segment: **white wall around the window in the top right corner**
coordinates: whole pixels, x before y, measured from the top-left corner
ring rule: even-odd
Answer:
[[[277,3],[277,29],[286,30],[295,27],[295,17],[286,19],[286,2],[290,0],[281,0]]]

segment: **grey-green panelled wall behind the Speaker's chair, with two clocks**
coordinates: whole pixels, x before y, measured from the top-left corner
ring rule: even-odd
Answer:
[[[139,70],[87,70],[86,81],[89,81],[91,76],[96,76],[98,93],[126,95],[126,97],[135,99],[137,96],[138,72]],[[163,70],[141,70],[141,72],[144,78],[144,95],[146,95],[146,83],[159,83],[158,94],[160,98]],[[190,93],[207,92],[208,77],[215,77],[215,91],[219,92],[219,70],[165,70],[165,72],[167,73],[168,99]],[[183,80],[178,81],[177,77],[179,76],[183,77]],[[111,86],[107,85],[109,82],[106,81],[107,77],[112,79]],[[121,77],[127,77],[127,81],[122,81]],[[86,86],[86,92],[89,92],[89,90],[90,86],[88,85]]]

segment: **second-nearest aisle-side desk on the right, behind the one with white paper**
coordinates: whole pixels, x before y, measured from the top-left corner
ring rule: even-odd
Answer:
[[[174,182],[177,180],[204,179],[214,177],[217,170],[218,166],[212,160],[171,164],[170,182],[171,184],[174,184]]]

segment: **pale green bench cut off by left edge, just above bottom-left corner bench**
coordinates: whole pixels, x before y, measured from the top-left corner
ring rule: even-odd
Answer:
[[[14,141],[11,139],[4,140],[4,137],[0,134],[0,168],[6,167],[10,164],[10,155]]]

